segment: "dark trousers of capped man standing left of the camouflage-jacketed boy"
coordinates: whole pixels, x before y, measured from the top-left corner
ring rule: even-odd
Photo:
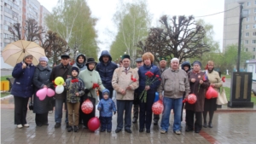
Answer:
[[[67,103],[65,99],[55,99],[55,123],[61,123],[62,118],[62,107],[63,103],[65,102],[65,109],[66,109],[66,119],[65,122],[68,123],[67,119]]]

